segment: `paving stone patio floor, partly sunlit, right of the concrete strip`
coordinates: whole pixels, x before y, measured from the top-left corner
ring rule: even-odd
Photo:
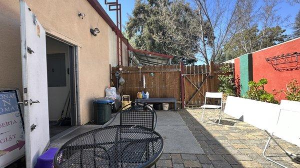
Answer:
[[[178,111],[205,154],[166,154],[156,163],[159,168],[280,168],[262,156],[267,135],[247,123],[222,113],[222,124],[201,122],[199,109]],[[208,117],[217,112],[206,110]],[[300,153],[300,148],[277,139],[290,152]],[[285,156],[279,147],[271,142],[267,156],[288,168],[300,168],[299,163]]]

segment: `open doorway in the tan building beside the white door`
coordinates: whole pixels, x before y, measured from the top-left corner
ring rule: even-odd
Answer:
[[[74,47],[46,36],[49,137],[76,125]]]

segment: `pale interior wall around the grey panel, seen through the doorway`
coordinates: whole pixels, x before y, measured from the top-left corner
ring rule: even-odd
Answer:
[[[64,102],[67,98],[70,88],[70,76],[67,73],[69,68],[69,51],[68,45],[59,42],[50,37],[46,38],[46,51],[47,54],[65,53],[65,87],[48,87],[48,104],[49,104],[49,120],[56,121],[59,119],[61,111],[64,106]]]

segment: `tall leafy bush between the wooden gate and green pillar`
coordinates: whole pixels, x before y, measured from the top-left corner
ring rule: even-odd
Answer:
[[[221,75],[217,76],[217,79],[220,81],[218,92],[223,92],[225,96],[235,96],[235,86],[233,83],[234,76],[233,74],[227,74],[231,71],[228,64],[225,64],[220,67],[222,71]]]

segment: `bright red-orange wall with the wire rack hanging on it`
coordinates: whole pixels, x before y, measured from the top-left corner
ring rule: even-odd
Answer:
[[[291,79],[296,79],[298,82],[300,82],[300,70],[278,72],[273,69],[271,64],[265,61],[265,58],[267,57],[286,54],[290,52],[300,52],[300,38],[296,38],[282,44],[253,52],[253,80],[256,82],[261,78],[266,78],[268,80],[268,84],[266,84],[265,86],[265,90],[267,92],[271,92],[272,89],[286,90],[285,86]],[[237,61],[234,60],[234,64],[236,63]],[[237,68],[237,66],[234,66],[234,68]],[[281,96],[277,97],[277,99],[285,99],[284,93],[282,93]]]

